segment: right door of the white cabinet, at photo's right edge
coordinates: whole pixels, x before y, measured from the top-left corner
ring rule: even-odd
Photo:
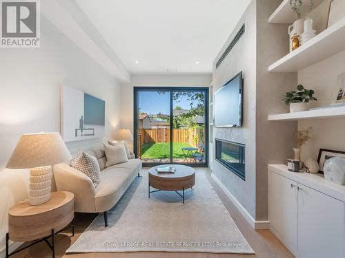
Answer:
[[[344,203],[298,184],[298,257],[344,258]]]

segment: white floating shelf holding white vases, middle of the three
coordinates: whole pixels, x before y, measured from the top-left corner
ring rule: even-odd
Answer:
[[[297,72],[345,50],[345,17],[268,67],[270,72]]]

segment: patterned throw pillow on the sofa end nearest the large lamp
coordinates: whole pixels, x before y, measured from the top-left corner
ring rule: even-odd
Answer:
[[[101,170],[99,169],[97,158],[94,156],[78,149],[77,154],[72,158],[70,166],[86,174],[95,184],[95,187],[99,185],[99,173]]]

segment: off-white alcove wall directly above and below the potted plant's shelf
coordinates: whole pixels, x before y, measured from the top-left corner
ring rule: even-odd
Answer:
[[[311,107],[328,106],[337,92],[337,77],[345,72],[345,51],[342,51],[324,61],[306,67],[298,72],[298,83],[315,89],[317,102]],[[317,160],[319,149],[334,149],[345,151],[345,120],[332,118],[326,120],[301,120],[299,129],[313,127],[311,140],[302,147],[302,160],[313,158]]]

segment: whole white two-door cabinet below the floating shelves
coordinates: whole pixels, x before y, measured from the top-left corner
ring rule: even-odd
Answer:
[[[269,171],[268,176],[270,230],[296,257],[344,258],[344,200],[280,172]]]

